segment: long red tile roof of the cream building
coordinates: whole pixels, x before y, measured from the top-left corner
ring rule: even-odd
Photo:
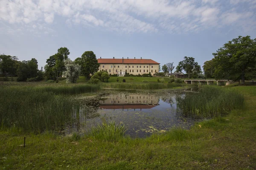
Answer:
[[[98,59],[100,64],[160,64],[152,59]]]

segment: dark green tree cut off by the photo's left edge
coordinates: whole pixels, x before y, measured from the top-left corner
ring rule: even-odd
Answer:
[[[2,69],[3,74],[7,77],[7,74],[16,74],[17,70],[17,57],[1,54],[0,55],[0,69]]]

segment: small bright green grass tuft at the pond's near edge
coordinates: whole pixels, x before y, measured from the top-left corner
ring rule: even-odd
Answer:
[[[125,131],[124,125],[116,125],[114,121],[109,123],[104,122],[102,125],[93,126],[90,135],[94,139],[117,141],[124,136]]]

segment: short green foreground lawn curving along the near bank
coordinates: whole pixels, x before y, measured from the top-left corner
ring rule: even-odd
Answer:
[[[0,169],[256,169],[256,86],[236,86],[243,111],[145,139],[0,133]],[[199,126],[200,125],[200,126]]]

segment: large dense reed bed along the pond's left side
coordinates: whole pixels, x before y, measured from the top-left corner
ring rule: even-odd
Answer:
[[[0,128],[17,128],[24,132],[64,130],[80,104],[65,94],[93,92],[98,85],[12,86],[0,89]]]

